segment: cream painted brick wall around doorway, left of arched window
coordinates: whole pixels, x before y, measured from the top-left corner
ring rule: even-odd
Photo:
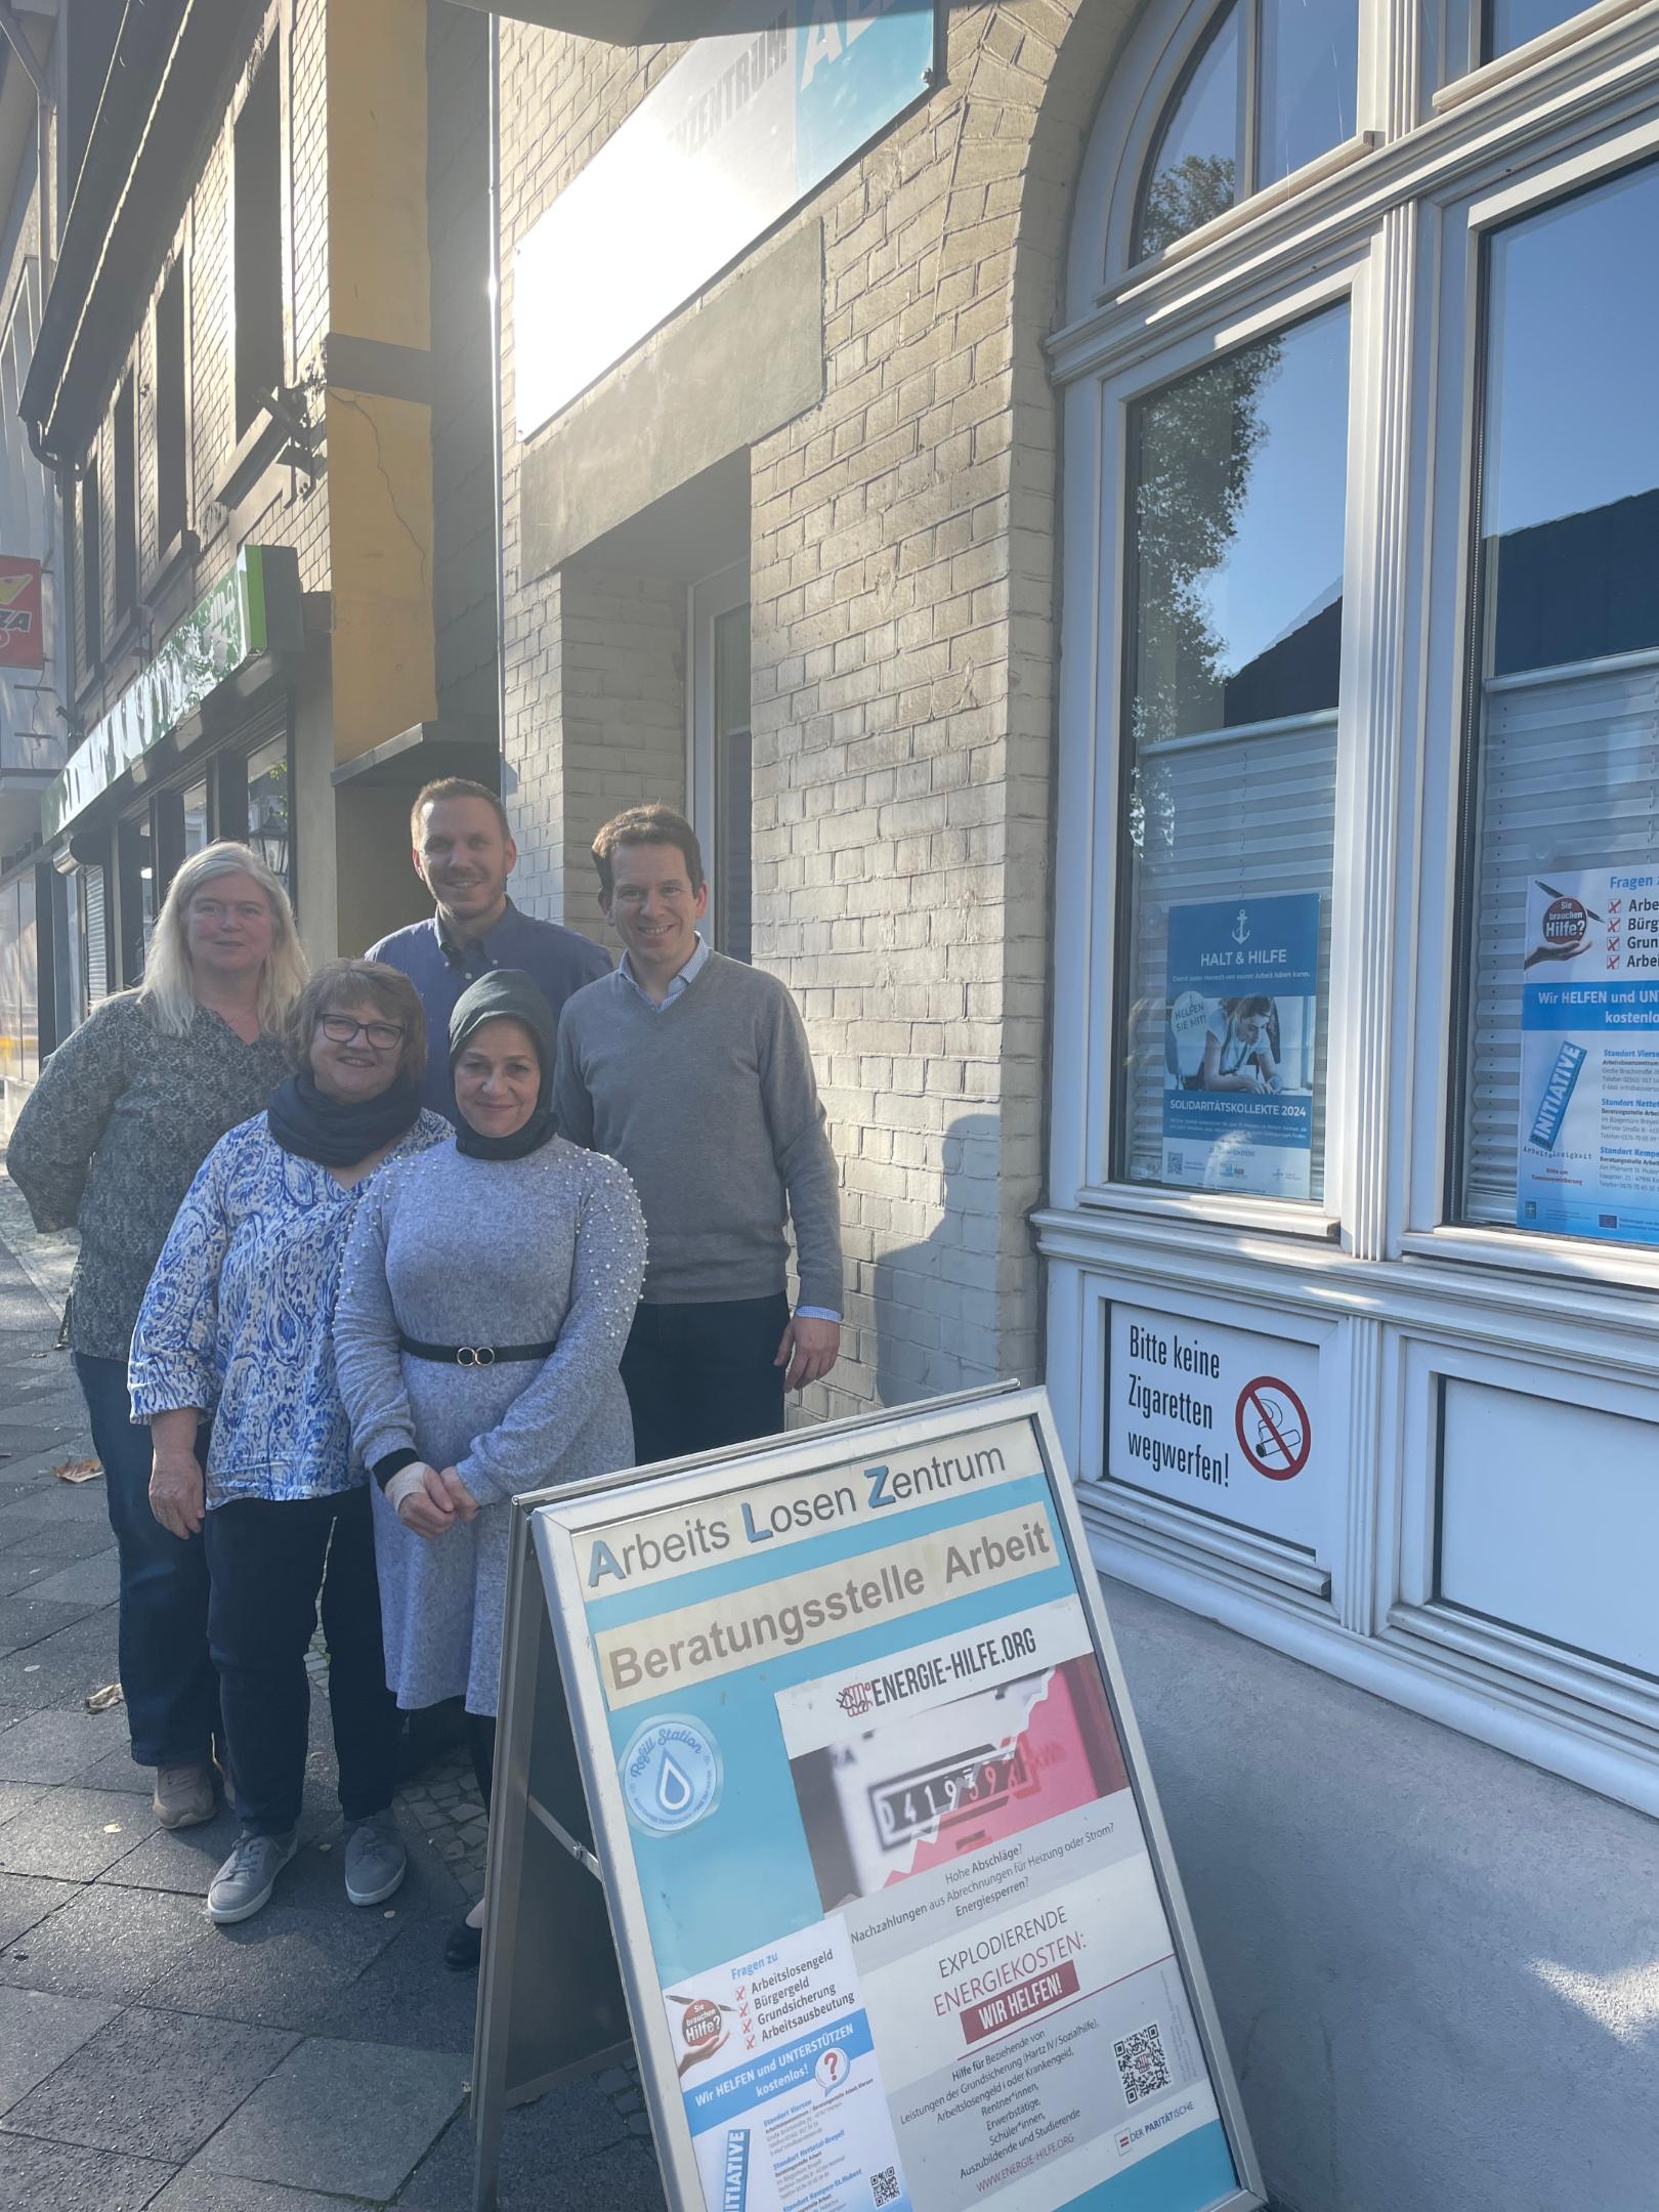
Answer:
[[[823,223],[825,396],[750,449],[754,956],[803,1006],[843,1168],[847,1332],[821,1413],[1040,1369],[1057,498],[1040,341],[1126,11],[947,13],[936,93],[792,219]],[[513,246],[677,53],[502,24],[509,425]],[[595,745],[575,564],[524,575],[520,546],[509,436],[509,792],[524,891],[582,925],[582,827],[639,796],[637,721],[602,692]]]

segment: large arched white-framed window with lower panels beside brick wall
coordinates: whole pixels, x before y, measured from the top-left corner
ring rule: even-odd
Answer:
[[[1139,11],[1048,347],[1042,1217],[1113,1571],[1650,1809],[1655,232],[1652,7]]]

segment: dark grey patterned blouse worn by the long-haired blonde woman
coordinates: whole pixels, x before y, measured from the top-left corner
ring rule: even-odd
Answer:
[[[133,991],[106,998],[40,1071],[7,1146],[38,1230],[80,1228],[69,1292],[75,1352],[126,1360],[173,1217],[215,1144],[259,1113],[292,1062],[197,1009],[164,1037]]]

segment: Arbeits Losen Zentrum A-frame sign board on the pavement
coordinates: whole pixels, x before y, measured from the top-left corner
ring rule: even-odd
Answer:
[[[1254,2203],[1042,1394],[856,1427],[535,1509],[670,2205]]]

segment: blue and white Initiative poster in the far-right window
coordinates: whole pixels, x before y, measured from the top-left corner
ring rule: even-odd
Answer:
[[[1659,1243],[1659,869],[1526,885],[1515,1219]]]

